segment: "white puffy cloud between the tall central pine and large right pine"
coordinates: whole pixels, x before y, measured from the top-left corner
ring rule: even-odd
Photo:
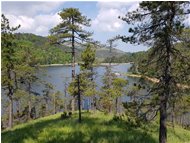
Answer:
[[[98,15],[92,20],[92,28],[103,32],[116,32],[124,27],[119,16],[135,10],[139,2],[98,2]]]

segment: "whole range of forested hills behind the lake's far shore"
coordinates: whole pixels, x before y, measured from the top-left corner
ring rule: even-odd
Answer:
[[[30,46],[35,47],[35,50],[32,52],[37,56],[38,61],[36,62],[38,64],[64,64],[71,62],[71,49],[66,46],[50,45],[47,37],[29,33],[17,33],[16,38],[20,42],[27,42],[31,44]],[[81,61],[80,55],[84,47],[77,45],[76,50],[76,60]],[[108,48],[98,47],[96,49],[96,60],[98,62],[107,62],[105,59],[108,58],[109,55]],[[114,55],[114,57],[120,57],[126,54],[123,51],[112,49],[112,55]]]

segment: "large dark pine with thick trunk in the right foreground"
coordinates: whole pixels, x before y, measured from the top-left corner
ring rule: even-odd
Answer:
[[[184,15],[189,14],[189,2],[141,2],[139,9],[126,14],[122,20],[134,24],[129,29],[132,36],[121,36],[124,42],[147,44],[152,47],[150,63],[156,63],[159,83],[152,89],[158,94],[157,110],[160,112],[159,142],[167,142],[167,106],[171,98],[175,98],[179,77],[174,77],[173,60],[181,53],[174,43],[184,28]],[[138,23],[137,23],[138,22]],[[185,75],[184,75],[185,76]],[[154,100],[155,101],[155,100]]]

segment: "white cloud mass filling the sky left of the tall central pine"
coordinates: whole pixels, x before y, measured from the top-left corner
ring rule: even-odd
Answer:
[[[2,2],[2,13],[11,26],[21,27],[17,32],[47,36],[49,30],[60,22],[55,12],[63,2]]]

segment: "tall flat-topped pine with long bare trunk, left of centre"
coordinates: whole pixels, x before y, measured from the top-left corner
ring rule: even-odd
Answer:
[[[90,41],[89,37],[92,33],[85,31],[82,26],[89,27],[90,19],[83,16],[79,9],[66,8],[63,9],[59,16],[62,22],[50,30],[50,42],[54,44],[67,45],[71,43],[72,54],[72,79],[75,77],[75,49],[76,44],[81,44],[83,41]],[[75,97],[72,101],[72,111],[75,110]]]

